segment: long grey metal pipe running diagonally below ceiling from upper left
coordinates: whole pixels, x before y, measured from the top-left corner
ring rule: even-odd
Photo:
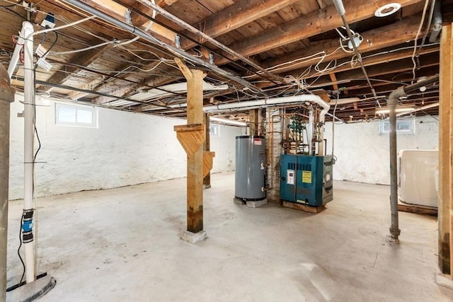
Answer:
[[[193,55],[188,54],[184,50],[180,50],[176,47],[169,45],[168,43],[166,43],[164,41],[158,40],[155,37],[148,35],[144,30],[141,30],[140,28],[136,28],[134,25],[130,25],[128,23],[118,20],[117,18],[109,16],[107,13],[103,13],[103,11],[99,11],[98,9],[93,8],[93,7],[89,6],[88,4],[85,4],[82,1],[79,1],[79,0],[64,0],[64,1],[73,6],[76,6],[77,8],[80,8],[88,13],[93,14],[94,16],[97,16],[98,18],[101,18],[104,21],[107,21],[108,23],[111,23],[111,24],[117,26],[118,28],[121,28],[122,30],[126,30],[134,35],[142,37],[144,40],[147,40],[153,44],[164,47],[164,48],[166,48],[166,50],[172,52],[173,54],[175,54],[178,57],[186,59],[189,62],[192,62],[199,66],[204,66],[207,69],[214,71],[216,74],[225,76],[226,78],[230,79],[231,81],[235,81],[236,83],[240,83],[241,85],[247,87],[248,89],[250,89],[251,91],[253,91],[255,93],[260,93],[261,95],[266,94],[260,88],[254,86],[253,84],[251,84],[250,82],[248,82],[244,79],[241,79],[239,76],[234,76],[233,74],[231,74],[227,71],[224,71],[223,69],[220,69],[219,67],[217,67],[213,64],[207,63],[198,57],[194,57]]]

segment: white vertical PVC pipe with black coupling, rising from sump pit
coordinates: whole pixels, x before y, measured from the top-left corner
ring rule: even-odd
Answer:
[[[35,83],[33,73],[33,25],[23,23],[24,41],[24,198],[23,209],[33,209],[33,156],[35,139]],[[32,224],[33,226],[33,224]],[[24,243],[25,250],[25,281],[35,281],[35,242]]]

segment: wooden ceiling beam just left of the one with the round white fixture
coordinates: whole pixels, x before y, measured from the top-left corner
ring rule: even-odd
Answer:
[[[218,37],[219,35],[229,33],[231,30],[240,28],[247,23],[268,16],[270,13],[278,11],[297,1],[298,0],[241,0],[231,6],[227,6],[218,13],[214,13],[214,15],[201,21],[195,25],[195,27],[199,28],[203,33],[210,37]],[[187,30],[185,30],[183,34],[194,37],[195,40],[199,40],[198,37],[190,34]],[[195,45],[194,42],[189,40],[183,40],[181,43],[181,47],[184,50],[188,50]]]

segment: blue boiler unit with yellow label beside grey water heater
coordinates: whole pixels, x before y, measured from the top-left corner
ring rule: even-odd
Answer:
[[[332,156],[282,154],[280,199],[318,207],[333,199]]]

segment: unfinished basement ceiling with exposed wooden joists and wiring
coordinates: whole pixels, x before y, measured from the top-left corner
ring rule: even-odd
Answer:
[[[11,60],[13,41],[23,21],[32,22],[36,32],[44,29],[40,24],[50,14],[59,27],[93,13],[82,11],[69,0],[30,2],[25,7],[24,2],[0,1],[3,64]],[[205,105],[315,93],[325,100],[348,99],[338,103],[335,115],[345,122],[356,122],[382,118],[375,110],[386,107],[391,91],[439,72],[440,36],[430,42],[432,26],[428,25],[435,20],[432,0],[400,0],[401,9],[384,18],[374,16],[374,12],[391,1],[343,0],[350,28],[361,36],[357,38],[362,40],[358,50],[377,97],[357,56],[348,48],[348,40],[340,40],[340,34],[346,32],[340,28],[343,22],[331,0],[155,1],[173,17],[154,12],[152,1],[146,0],[75,2],[133,25],[149,38],[135,40],[134,34],[99,17],[35,35],[34,48],[41,44],[49,50],[45,59],[52,64],[49,71],[36,68],[37,95],[185,117],[185,91],[166,89],[176,83],[184,86],[174,59],[185,57],[188,66],[206,71],[207,86],[219,86],[204,91]],[[444,23],[452,20],[452,4],[452,0],[444,0],[440,5]],[[125,17],[128,11],[130,19]],[[217,42],[190,33],[177,19]],[[21,62],[12,83],[18,91],[23,90]],[[144,97],[159,90],[163,93]],[[401,105],[423,109],[412,115],[436,115],[438,102],[438,83],[400,100]],[[292,110],[304,110],[303,104],[291,106]],[[222,115],[247,118],[246,111],[238,110]]]

